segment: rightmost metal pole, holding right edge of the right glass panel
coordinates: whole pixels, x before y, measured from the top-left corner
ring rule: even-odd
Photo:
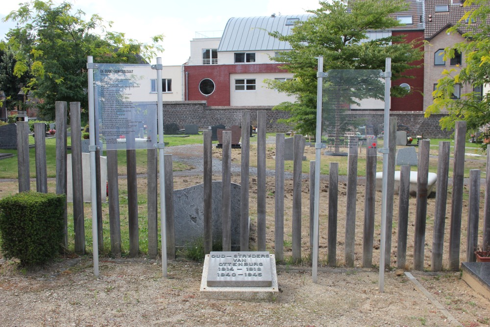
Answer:
[[[390,155],[390,89],[392,87],[392,58],[385,61],[385,135],[383,136],[383,148],[379,152],[383,153],[383,180],[381,196],[381,242],[379,247],[379,292],[385,291],[385,243],[386,243],[386,208],[388,199],[388,160]]]

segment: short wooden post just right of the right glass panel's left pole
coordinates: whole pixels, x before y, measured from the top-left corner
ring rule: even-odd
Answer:
[[[328,173],[328,265],[337,265],[337,211],[339,200],[339,163],[330,163]]]

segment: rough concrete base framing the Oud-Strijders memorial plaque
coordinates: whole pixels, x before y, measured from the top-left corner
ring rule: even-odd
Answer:
[[[201,299],[214,300],[245,300],[245,301],[275,301],[279,294],[277,286],[277,272],[275,256],[270,254],[270,272],[272,274],[272,285],[270,287],[225,287],[207,286],[208,268],[210,254],[204,258],[202,268],[201,287],[199,293]]]

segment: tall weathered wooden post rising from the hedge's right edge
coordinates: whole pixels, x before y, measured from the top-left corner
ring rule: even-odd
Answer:
[[[63,101],[56,101],[55,103],[55,115],[56,115],[56,194],[67,194],[67,104]],[[27,171],[28,172],[28,171]],[[27,174],[28,176],[29,174]],[[65,224],[65,247],[68,248],[68,214],[67,204],[65,203],[64,213]],[[75,235],[75,239],[76,239]],[[77,252],[75,246],[75,252]],[[78,251],[80,252],[80,251]],[[85,249],[83,249],[85,252]]]

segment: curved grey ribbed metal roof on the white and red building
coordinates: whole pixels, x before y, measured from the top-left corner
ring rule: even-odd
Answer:
[[[291,50],[289,42],[279,41],[269,35],[278,31],[289,35],[294,27],[286,25],[288,20],[306,21],[312,14],[233,17],[228,20],[221,37],[218,51],[257,51],[257,50]]]

